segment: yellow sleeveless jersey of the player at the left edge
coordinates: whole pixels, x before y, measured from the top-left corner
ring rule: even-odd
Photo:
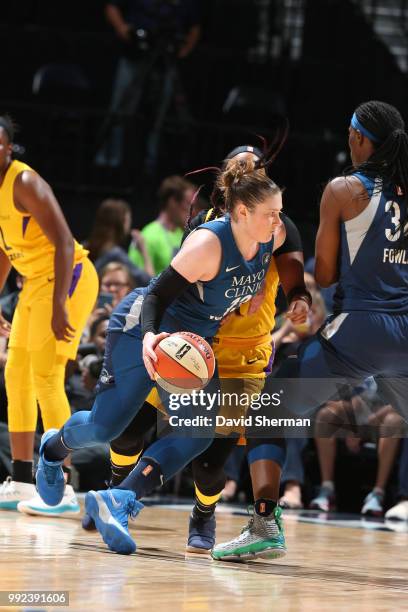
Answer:
[[[24,170],[34,172],[27,164],[14,160],[0,187],[0,248],[13,268],[25,278],[53,276],[54,245],[34,217],[20,212],[14,205],[14,181]],[[88,252],[76,241],[74,243],[74,263],[77,263]]]

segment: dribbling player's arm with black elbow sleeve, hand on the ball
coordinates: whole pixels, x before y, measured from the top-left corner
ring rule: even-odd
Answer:
[[[190,284],[214,278],[219,271],[221,255],[221,243],[213,232],[206,229],[194,232],[145,297],[141,310],[143,361],[153,380],[153,363],[157,361],[154,349],[168,336],[165,332],[158,333],[166,308]]]

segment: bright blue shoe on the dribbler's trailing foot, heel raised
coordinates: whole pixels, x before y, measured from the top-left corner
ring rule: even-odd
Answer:
[[[41,438],[40,458],[38,460],[36,482],[37,491],[47,506],[57,506],[64,497],[65,478],[62,471],[63,461],[47,461],[44,458],[44,446],[58,429],[49,429]]]

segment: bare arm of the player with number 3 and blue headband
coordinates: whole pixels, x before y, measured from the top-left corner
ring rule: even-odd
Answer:
[[[323,192],[315,251],[315,278],[321,287],[329,287],[339,278],[341,210],[349,200],[350,188],[344,177],[331,181]]]

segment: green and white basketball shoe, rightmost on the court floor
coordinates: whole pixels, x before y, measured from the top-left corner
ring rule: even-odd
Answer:
[[[282,510],[276,506],[268,516],[253,513],[249,523],[234,540],[215,546],[211,552],[217,561],[249,561],[262,557],[279,559],[286,555]]]

